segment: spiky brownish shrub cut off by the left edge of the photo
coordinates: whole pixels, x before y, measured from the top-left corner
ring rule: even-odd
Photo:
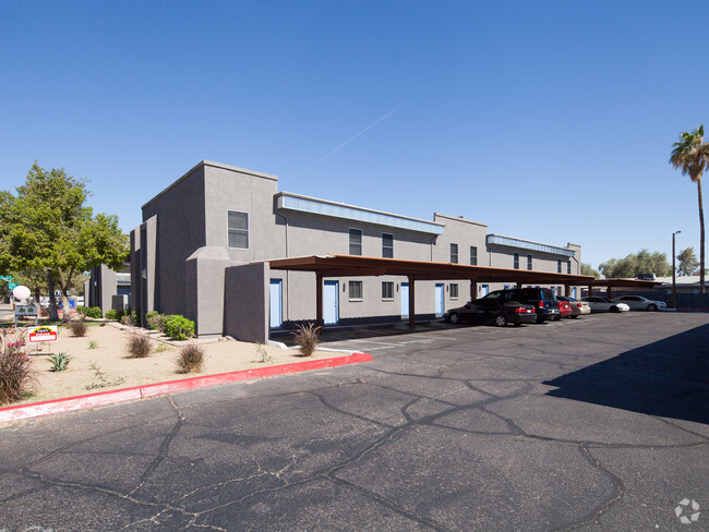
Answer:
[[[0,404],[17,401],[35,387],[24,346],[25,331],[0,329]]]

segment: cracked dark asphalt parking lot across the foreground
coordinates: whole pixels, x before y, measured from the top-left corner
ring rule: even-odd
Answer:
[[[0,530],[709,530],[709,314],[324,339],[374,362],[0,426]]]

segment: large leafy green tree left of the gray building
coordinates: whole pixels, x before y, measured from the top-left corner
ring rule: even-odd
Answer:
[[[63,169],[47,171],[35,162],[16,192],[0,194],[0,243],[5,247],[0,267],[50,269],[68,321],[72,282],[99,264],[120,268],[128,256],[128,240],[116,216],[94,216],[84,205],[91,194],[86,182]]]

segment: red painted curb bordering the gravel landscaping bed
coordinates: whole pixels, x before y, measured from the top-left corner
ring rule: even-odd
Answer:
[[[40,415],[56,414],[61,412],[71,412],[72,410],[104,407],[106,404],[115,404],[117,402],[135,401],[148,397],[161,396],[164,394],[173,394],[176,391],[185,391],[196,388],[206,388],[207,386],[216,386],[219,384],[236,383],[237,380],[249,380],[252,378],[272,377],[274,375],[309,372],[313,370],[323,370],[325,367],[336,367],[346,364],[372,362],[372,360],[374,359],[372,359],[372,355],[369,353],[352,353],[349,356],[309,360],[305,362],[295,362],[292,364],[259,367],[255,370],[243,370],[240,372],[219,373],[217,375],[206,375],[203,377],[169,380],[167,383],[134,386],[132,388],[123,388],[119,390],[99,391],[97,394],[88,394],[86,396],[53,399],[49,401],[33,402],[31,404],[19,404],[16,407],[5,407],[0,408],[0,423],[8,421],[26,420],[29,418],[38,418]]]

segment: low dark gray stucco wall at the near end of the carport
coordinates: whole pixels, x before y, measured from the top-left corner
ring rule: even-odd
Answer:
[[[240,341],[268,340],[267,263],[230,266],[225,271],[224,332]]]

